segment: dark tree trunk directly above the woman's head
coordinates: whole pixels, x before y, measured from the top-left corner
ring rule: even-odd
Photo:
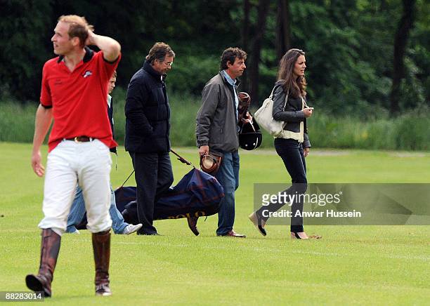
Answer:
[[[289,26],[289,1],[278,0],[278,15],[276,22],[276,58],[279,61],[291,48],[290,26]]]

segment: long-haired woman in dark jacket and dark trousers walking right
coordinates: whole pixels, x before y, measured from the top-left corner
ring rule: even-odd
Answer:
[[[273,88],[273,119],[284,121],[282,135],[275,138],[275,149],[285,164],[292,180],[292,187],[286,194],[304,194],[307,188],[305,157],[309,154],[309,142],[306,118],[312,116],[313,107],[306,105],[306,69],[305,53],[299,49],[290,49],[282,56],[278,69],[278,81]],[[285,102],[287,98],[287,102]],[[270,203],[249,215],[259,232],[266,236],[264,225],[269,212],[278,211],[285,202]],[[296,197],[292,201],[291,237],[309,239],[303,228],[303,199]],[[311,237],[320,238],[320,237]]]

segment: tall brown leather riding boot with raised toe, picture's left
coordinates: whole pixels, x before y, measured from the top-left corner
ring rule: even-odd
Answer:
[[[39,273],[28,274],[25,277],[25,284],[32,291],[43,291],[45,298],[49,298],[52,295],[51,283],[60,251],[61,236],[51,229],[44,229],[41,237]]]

